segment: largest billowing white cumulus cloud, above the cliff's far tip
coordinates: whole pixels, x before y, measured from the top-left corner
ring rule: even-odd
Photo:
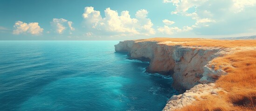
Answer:
[[[136,12],[135,17],[131,18],[129,11],[122,11],[118,15],[117,11],[106,8],[105,17],[100,15],[100,11],[95,11],[94,7],[85,7],[83,19],[85,26],[90,31],[100,31],[109,35],[152,35],[155,34],[152,28],[151,19],[147,18],[148,11],[145,9]]]

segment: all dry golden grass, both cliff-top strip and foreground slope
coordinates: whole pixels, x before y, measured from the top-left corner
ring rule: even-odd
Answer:
[[[236,53],[215,58],[211,65],[228,74],[221,76],[216,87],[228,93],[201,97],[178,111],[256,111],[256,50],[241,51],[244,47],[256,47],[256,40],[213,40],[201,38],[150,38],[142,41],[165,42],[168,45],[236,48]]]

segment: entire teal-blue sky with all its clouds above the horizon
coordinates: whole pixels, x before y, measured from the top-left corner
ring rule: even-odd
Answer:
[[[256,35],[256,0],[0,0],[0,40]]]

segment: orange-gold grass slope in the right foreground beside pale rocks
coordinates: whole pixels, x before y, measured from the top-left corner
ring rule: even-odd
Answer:
[[[218,57],[212,64],[228,72],[216,81],[228,93],[207,96],[179,111],[256,111],[256,50]]]

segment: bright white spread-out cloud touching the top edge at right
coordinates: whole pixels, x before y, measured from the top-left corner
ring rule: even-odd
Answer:
[[[245,7],[255,6],[256,0],[168,0],[168,3],[173,3],[175,6],[175,11],[172,14],[181,14],[186,16],[191,16],[192,19],[199,20],[197,23],[205,23],[200,22],[202,19],[212,19],[208,20],[208,22],[215,22],[214,15],[218,13],[214,13],[214,11],[219,13],[232,14],[233,12],[241,12]],[[179,1],[179,2],[178,2]],[[188,9],[194,8],[194,12],[188,13]],[[234,13],[233,13],[234,14]],[[213,18],[211,18],[213,17]]]

